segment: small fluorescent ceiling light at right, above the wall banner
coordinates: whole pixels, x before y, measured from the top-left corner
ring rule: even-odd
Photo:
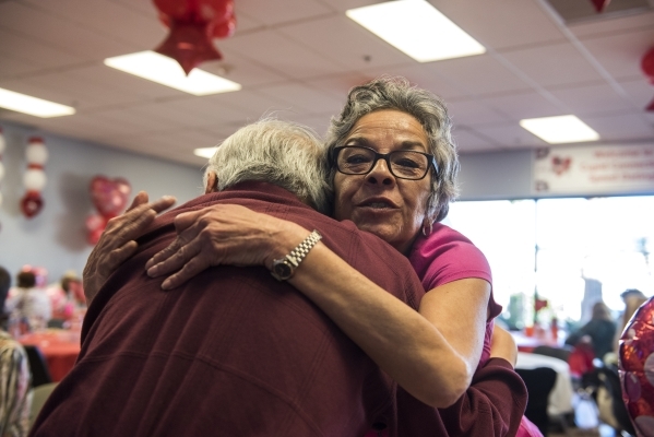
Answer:
[[[520,126],[550,144],[599,140],[599,134],[575,116],[530,118]]]

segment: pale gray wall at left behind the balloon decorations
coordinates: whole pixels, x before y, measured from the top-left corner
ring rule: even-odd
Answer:
[[[7,149],[2,163],[5,176],[0,181],[0,265],[15,274],[24,264],[44,267],[48,281],[56,282],[69,269],[81,275],[92,247],[86,243],[84,221],[96,213],[88,184],[97,175],[124,177],[132,197],[145,190],[151,199],[163,194],[177,197],[181,204],[203,192],[202,169],[183,164],[121,152],[83,141],[71,140],[19,125],[0,121]],[[24,194],[25,145],[29,137],[45,140],[49,160],[48,179],[41,193],[44,209],[33,218],[20,211]]]

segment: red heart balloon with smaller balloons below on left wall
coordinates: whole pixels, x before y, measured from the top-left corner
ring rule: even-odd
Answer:
[[[105,231],[107,222],[124,211],[132,188],[123,178],[109,179],[105,176],[96,176],[91,180],[88,190],[97,214],[86,217],[87,241],[95,245]]]

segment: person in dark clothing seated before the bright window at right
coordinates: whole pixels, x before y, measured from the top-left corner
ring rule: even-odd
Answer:
[[[566,339],[566,344],[572,346],[588,344],[595,357],[604,359],[604,355],[614,350],[615,335],[616,322],[611,317],[610,309],[603,302],[598,302],[593,305],[591,320],[570,333]]]

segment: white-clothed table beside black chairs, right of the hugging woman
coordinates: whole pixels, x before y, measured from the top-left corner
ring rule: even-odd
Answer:
[[[574,389],[570,379],[570,366],[562,359],[539,354],[518,353],[515,368],[534,369],[536,367],[549,367],[557,373],[554,389],[549,393],[547,412],[550,416],[571,413]]]

